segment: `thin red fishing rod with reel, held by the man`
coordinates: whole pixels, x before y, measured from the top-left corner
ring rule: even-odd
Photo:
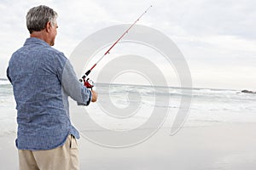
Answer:
[[[143,17],[143,15],[148,12],[148,9],[151,8],[151,7],[152,7],[152,5],[150,5],[150,6],[143,12],[143,14],[141,14],[141,15],[137,18],[137,20],[135,20],[135,21],[133,22],[133,24],[119,37],[119,39],[118,39],[116,42],[113,42],[113,45],[112,45],[110,48],[108,48],[108,50],[106,51],[106,53],[104,53],[104,54],[102,55],[102,57],[101,57],[100,59],[98,59],[97,62],[96,62],[88,71],[86,71],[86,72],[84,73],[84,76],[83,76],[81,79],[79,79],[80,82],[84,82],[84,86],[85,86],[86,88],[93,88],[93,86],[94,86],[94,82],[92,82],[89,78],[86,79],[86,77],[89,76],[90,71],[92,71],[92,70],[96,67],[96,65],[103,59],[103,57],[104,57],[105,55],[109,54],[110,50],[111,50],[123,37],[125,37],[125,34],[128,34],[128,31],[131,30],[131,27],[134,26],[134,25],[136,25],[137,21],[140,20],[140,19]],[[85,79],[86,79],[86,80],[85,80]]]

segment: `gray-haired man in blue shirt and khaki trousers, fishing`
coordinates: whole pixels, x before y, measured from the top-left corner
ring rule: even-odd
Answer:
[[[20,170],[79,169],[79,132],[71,124],[67,98],[80,105],[97,99],[95,91],[78,81],[64,54],[50,47],[55,44],[56,17],[52,8],[31,8],[26,14],[30,37],[9,60]]]

